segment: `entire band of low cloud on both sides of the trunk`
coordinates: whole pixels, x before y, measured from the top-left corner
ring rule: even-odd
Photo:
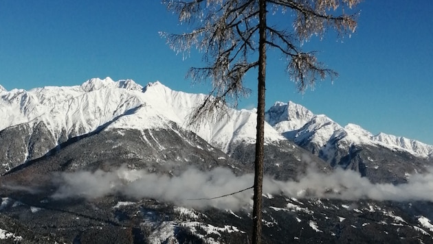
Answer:
[[[211,200],[234,193],[253,185],[254,175],[236,176],[230,169],[215,168],[199,171],[190,168],[178,176],[148,173],[146,170],[131,170],[120,167],[115,171],[78,171],[60,173],[55,177],[58,190],[52,197],[97,198],[110,194],[121,194],[136,199],[153,198],[173,202],[181,206],[205,208],[213,206],[223,209],[238,209],[252,204],[252,190]],[[299,180],[276,181],[265,177],[263,192],[282,194],[298,198],[330,199],[375,199],[375,200],[427,200],[433,202],[433,171],[414,174],[406,184],[373,184],[359,173],[336,169],[333,173],[319,173],[309,169]]]

